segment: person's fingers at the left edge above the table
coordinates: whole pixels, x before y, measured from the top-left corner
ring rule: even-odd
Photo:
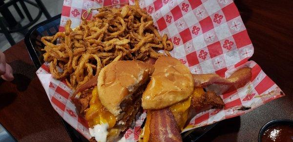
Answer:
[[[14,79],[12,68],[6,63],[5,55],[0,51],[0,78],[5,81],[12,81]]]

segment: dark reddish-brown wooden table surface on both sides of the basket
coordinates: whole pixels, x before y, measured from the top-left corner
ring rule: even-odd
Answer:
[[[235,0],[256,61],[286,94],[240,117],[219,122],[199,141],[257,141],[273,119],[293,120],[293,0]],[[19,141],[70,141],[38,80],[24,42],[4,54],[15,80],[0,80],[0,123]]]

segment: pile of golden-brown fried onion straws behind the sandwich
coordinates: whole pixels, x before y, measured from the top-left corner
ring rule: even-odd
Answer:
[[[75,29],[70,28],[71,21],[67,20],[64,32],[42,37],[44,61],[50,62],[55,79],[65,79],[75,89],[112,61],[170,56],[172,42],[166,34],[161,37],[152,18],[137,2],[122,8],[102,7],[98,11]]]

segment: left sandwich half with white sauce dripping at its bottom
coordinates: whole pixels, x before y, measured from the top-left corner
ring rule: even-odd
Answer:
[[[114,61],[101,70],[85,112],[91,141],[115,141],[130,126],[153,70],[142,61]]]

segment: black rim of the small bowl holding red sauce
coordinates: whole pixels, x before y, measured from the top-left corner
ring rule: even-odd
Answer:
[[[271,126],[276,124],[286,124],[286,125],[293,125],[292,120],[286,120],[286,119],[278,119],[278,120],[272,120],[268,123],[266,123],[259,131],[258,133],[258,142],[261,142],[261,137],[264,134],[264,132]]]

